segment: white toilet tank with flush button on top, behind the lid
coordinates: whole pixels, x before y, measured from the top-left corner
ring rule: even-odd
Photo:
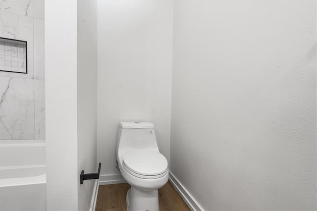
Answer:
[[[158,144],[151,122],[120,122],[116,152],[131,149],[157,150]]]

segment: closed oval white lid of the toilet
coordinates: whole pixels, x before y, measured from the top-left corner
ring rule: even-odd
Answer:
[[[166,172],[167,160],[154,150],[131,150],[124,154],[123,164],[129,170],[146,176],[159,175]]]

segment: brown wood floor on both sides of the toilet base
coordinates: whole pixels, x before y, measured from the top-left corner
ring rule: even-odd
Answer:
[[[129,188],[128,183],[99,186],[96,211],[126,211],[125,196]],[[159,189],[159,210],[190,211],[169,181]]]

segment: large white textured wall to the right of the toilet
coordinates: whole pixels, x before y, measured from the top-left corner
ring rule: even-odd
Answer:
[[[205,210],[316,210],[316,1],[173,15],[171,172]]]

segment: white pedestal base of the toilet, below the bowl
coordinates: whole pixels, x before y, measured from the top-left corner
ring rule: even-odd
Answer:
[[[126,196],[127,211],[159,211],[159,191],[131,187]]]

